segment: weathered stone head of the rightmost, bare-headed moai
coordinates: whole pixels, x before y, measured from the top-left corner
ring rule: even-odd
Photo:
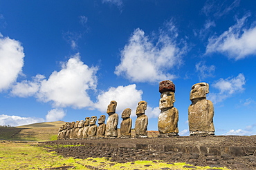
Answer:
[[[190,100],[195,98],[206,98],[206,94],[209,93],[208,83],[196,83],[192,86],[190,91]]]

